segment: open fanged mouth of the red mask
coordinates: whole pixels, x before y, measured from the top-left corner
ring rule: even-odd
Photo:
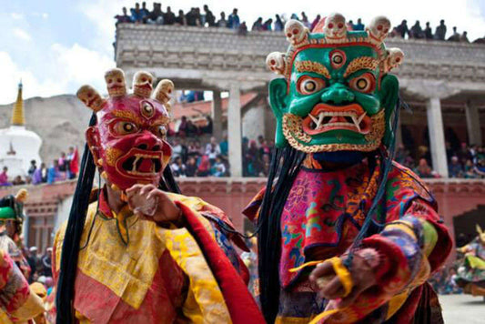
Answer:
[[[161,152],[147,152],[134,148],[126,155],[126,159],[120,162],[120,168],[129,176],[154,177],[162,170],[161,157]]]

